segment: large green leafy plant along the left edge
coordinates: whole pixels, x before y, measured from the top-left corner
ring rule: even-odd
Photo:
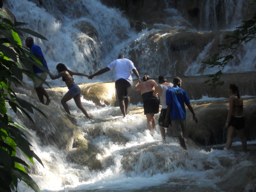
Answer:
[[[0,0],[0,7],[2,8],[2,0]],[[21,112],[31,121],[33,120],[29,113],[34,113],[34,110],[44,115],[41,110],[29,102],[18,98],[12,91],[11,84],[22,86],[23,73],[32,79],[41,79],[33,73],[33,65],[47,72],[41,62],[30,54],[28,49],[22,47],[20,36],[23,36],[23,32],[38,38],[46,38],[30,29],[20,28],[26,23],[13,22],[11,16],[2,10],[0,10],[0,17],[0,191],[11,192],[12,187],[17,190],[18,179],[25,182],[28,187],[32,187],[33,190],[40,191],[38,185],[26,173],[25,167],[30,169],[30,166],[16,157],[17,149],[19,148],[32,164],[34,164],[33,158],[40,164],[43,165],[43,163],[30,149],[32,145],[28,142],[24,132],[29,133],[25,128],[13,122],[7,112],[9,109],[12,109],[14,113]],[[35,61],[32,61],[29,56]]]

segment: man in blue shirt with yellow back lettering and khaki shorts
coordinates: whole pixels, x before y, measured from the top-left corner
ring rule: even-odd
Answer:
[[[183,149],[187,150],[183,133],[186,125],[186,110],[184,103],[188,106],[188,109],[193,115],[193,121],[197,123],[194,110],[188,99],[186,91],[181,87],[181,79],[175,77],[173,79],[173,87],[166,91],[166,104],[167,113],[164,119],[164,124],[168,124],[168,120],[171,119],[173,136],[179,138],[179,143]]]

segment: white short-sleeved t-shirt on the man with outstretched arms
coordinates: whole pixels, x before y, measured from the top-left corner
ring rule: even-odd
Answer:
[[[132,70],[136,68],[131,60],[126,58],[116,59],[108,64],[107,67],[111,70],[115,70],[115,81],[125,79],[132,85],[131,73]]]

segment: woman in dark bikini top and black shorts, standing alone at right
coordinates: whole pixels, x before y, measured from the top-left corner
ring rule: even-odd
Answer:
[[[228,89],[231,95],[228,98],[229,110],[227,115],[227,122],[225,127],[227,128],[227,143],[226,148],[230,149],[232,145],[232,138],[235,131],[237,131],[241,141],[243,150],[246,151],[247,143],[244,135],[244,117],[243,117],[243,99],[239,95],[238,87],[235,84],[230,84]]]

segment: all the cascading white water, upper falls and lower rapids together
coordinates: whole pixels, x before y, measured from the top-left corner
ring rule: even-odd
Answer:
[[[201,11],[201,26],[198,27],[193,26],[184,16],[185,13],[178,8],[179,4],[171,7],[172,3],[166,1],[166,9],[163,11],[167,14],[167,24],[156,23],[154,29],[136,33],[121,11],[106,7],[98,0],[42,2],[43,5],[37,5],[37,1],[9,0],[5,6],[18,21],[29,23],[28,28],[49,40],[35,38],[35,44],[41,46],[50,70],[54,71],[56,64],[63,62],[71,70],[86,74],[94,73],[116,59],[120,51],[134,61],[140,74],[147,72],[152,77],[160,74],[174,76],[212,73],[216,69],[202,70],[200,62],[210,57],[215,50],[215,38],[221,37],[222,32],[216,35],[210,31],[234,29],[241,24],[243,17],[239,17],[240,13],[244,15],[245,12],[242,8],[245,4],[239,0],[225,0],[219,5],[220,1],[217,0],[214,3],[203,2],[198,5]],[[180,6],[183,8],[184,4]],[[214,18],[218,20],[216,6],[222,7],[218,10],[225,13],[223,22],[228,23],[225,28],[214,21]],[[234,12],[237,17],[231,18]],[[201,30],[199,32],[196,29]],[[236,56],[235,60],[239,63],[231,62],[225,72],[255,70],[255,53],[255,43],[246,44]],[[91,81],[76,76],[74,78],[77,83]],[[97,78],[113,80],[113,74],[108,72]],[[97,78],[93,81],[98,81]],[[32,84],[28,80],[26,82]],[[48,79],[47,82],[52,86],[63,85],[60,79]],[[29,100],[31,91],[23,91],[24,95],[20,97]],[[61,98],[64,91],[63,88],[56,91],[59,95],[52,94]],[[95,156],[101,162],[101,169],[91,170],[74,161],[71,163],[70,159],[75,158],[71,156],[72,152],[78,149],[72,146],[74,136],[66,137],[66,147],[54,143],[63,143],[59,141],[61,131],[58,124],[53,124],[58,123],[55,121],[60,121],[57,118],[64,117],[64,114],[60,103],[53,100],[49,107],[56,109],[56,114],[51,114],[49,120],[36,122],[38,129],[30,130],[32,136],[29,137],[33,150],[44,163],[43,168],[35,162],[30,171],[42,191],[230,191],[235,190],[238,184],[245,191],[255,189],[253,176],[256,171],[256,154],[239,152],[240,142],[233,144],[235,150],[225,151],[222,150],[224,145],[210,149],[198,147],[187,139],[188,153],[185,153],[176,139],[167,137],[167,144],[164,144],[158,126],[150,135],[146,130],[142,107],[130,107],[127,117],[123,119],[119,107],[99,107],[83,98],[82,103],[94,121],[86,120],[74,101],[68,101],[71,114],[77,121],[76,129],[97,149]],[[39,105],[35,101],[34,104]],[[44,106],[40,107],[44,109]],[[50,108],[45,111],[51,111]],[[9,112],[9,115],[19,124],[28,125],[25,118],[17,117],[13,112]],[[36,120],[43,117],[35,114],[32,118]],[[249,144],[254,146],[255,141]],[[245,176],[237,179],[235,176],[241,172]],[[228,182],[231,184],[228,185]],[[30,190],[22,182],[18,186],[19,191]]]

